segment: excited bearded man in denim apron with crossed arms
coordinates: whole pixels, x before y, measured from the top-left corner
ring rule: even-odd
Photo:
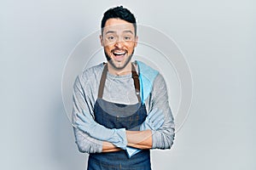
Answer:
[[[151,169],[149,149],[170,149],[174,122],[166,83],[143,62],[131,62],[137,24],[122,6],[102,18],[100,36],[107,63],[77,77],[73,126],[88,169]]]

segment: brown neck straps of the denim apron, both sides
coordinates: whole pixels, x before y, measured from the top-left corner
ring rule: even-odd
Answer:
[[[98,98],[100,98],[100,99],[102,99],[104,86],[105,86],[105,82],[106,82],[106,77],[107,77],[107,72],[108,72],[108,64],[105,64],[104,69],[102,71],[102,77],[101,77],[100,87],[99,87],[99,91],[98,91]],[[137,99],[139,102],[141,102],[140,81],[139,81],[139,77],[137,75],[135,66],[133,64],[131,64],[131,75],[132,75],[132,79],[134,82],[134,88],[135,88],[135,92],[137,95]]]

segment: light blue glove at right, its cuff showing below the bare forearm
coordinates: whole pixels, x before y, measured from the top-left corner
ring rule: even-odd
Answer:
[[[146,120],[141,125],[140,130],[158,130],[163,125],[164,122],[165,116],[163,114],[163,111],[160,111],[157,108],[155,108],[149,112],[148,116],[146,117]],[[132,147],[126,147],[126,153],[129,156],[129,158],[137,154],[139,151],[141,150]]]

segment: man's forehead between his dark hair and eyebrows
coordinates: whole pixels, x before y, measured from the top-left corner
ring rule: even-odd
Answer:
[[[108,31],[114,31],[114,32],[123,32],[123,31],[131,31],[134,33],[135,29],[133,24],[130,22],[127,22],[125,20],[120,19],[108,19],[106,21],[103,33],[106,33]]]

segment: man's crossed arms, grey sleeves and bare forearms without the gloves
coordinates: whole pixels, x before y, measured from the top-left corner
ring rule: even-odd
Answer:
[[[76,79],[73,88],[73,123],[79,120],[78,113],[86,112],[93,117],[93,106],[95,92],[90,88],[89,81],[85,81],[84,77],[80,76]],[[154,108],[160,108],[164,115],[164,122],[159,129],[145,129],[143,131],[125,131],[127,146],[132,146],[138,149],[169,149],[173,144],[174,139],[174,122],[172,111],[168,103],[166,83],[160,75],[155,78],[152,93],[145,100],[147,110],[153,111]],[[96,153],[121,150],[115,144],[107,141],[96,139],[89,133],[74,127],[76,143],[81,152]]]

